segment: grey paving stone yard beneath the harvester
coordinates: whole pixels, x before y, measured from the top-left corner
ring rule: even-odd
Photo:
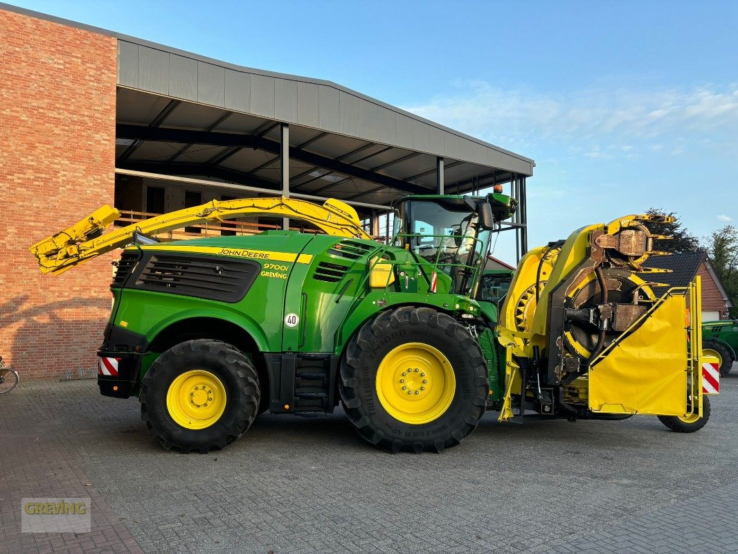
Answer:
[[[259,417],[224,451],[162,450],[94,380],[0,397],[0,554],[738,552],[738,366],[708,425],[499,424],[385,454],[342,411]],[[92,533],[20,533],[24,496],[92,499]]]

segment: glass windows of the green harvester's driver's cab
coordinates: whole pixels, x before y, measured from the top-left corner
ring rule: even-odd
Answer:
[[[490,233],[483,230],[477,235],[478,217],[469,206],[450,208],[456,209],[438,202],[405,202],[399,241],[451,278],[449,292],[468,294],[478,264],[486,256]]]

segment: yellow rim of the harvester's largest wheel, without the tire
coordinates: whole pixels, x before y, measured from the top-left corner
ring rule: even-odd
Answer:
[[[392,349],[376,372],[376,393],[390,416],[421,425],[438,419],[451,406],[456,377],[448,358],[425,343]]]

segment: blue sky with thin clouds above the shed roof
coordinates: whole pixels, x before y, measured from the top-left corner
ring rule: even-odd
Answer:
[[[736,1],[13,4],[336,81],[531,157],[531,244],[651,206],[697,236],[738,221]]]

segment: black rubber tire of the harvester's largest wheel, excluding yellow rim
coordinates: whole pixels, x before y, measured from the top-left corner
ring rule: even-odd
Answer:
[[[455,390],[445,411],[427,423],[405,423],[379,400],[376,375],[388,353],[407,343],[430,345],[452,366]],[[487,368],[477,341],[458,321],[430,308],[401,307],[362,326],[346,347],[339,391],[349,420],[386,451],[435,451],[458,445],[484,414]]]

